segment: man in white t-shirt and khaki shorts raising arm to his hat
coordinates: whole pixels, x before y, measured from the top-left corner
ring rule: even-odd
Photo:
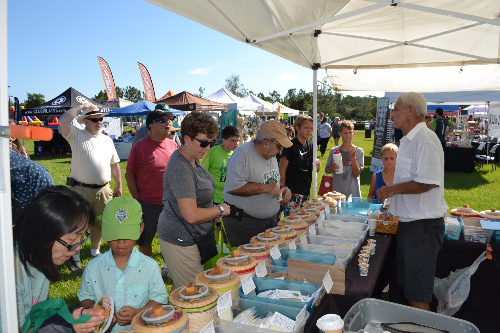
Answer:
[[[73,118],[82,111],[76,121],[84,124],[80,129],[71,124]],[[102,117],[107,112],[100,112],[92,103],[78,105],[67,110],[59,118],[62,136],[71,146],[71,177],[66,185],[93,207],[96,221],[90,228],[90,255],[100,255],[101,223],[99,217],[106,204],[114,197],[121,196],[121,170],[118,154],[111,138],[100,132]],[[114,191],[109,186],[111,174],[116,181]],[[72,272],[81,272],[79,251],[70,260]]]

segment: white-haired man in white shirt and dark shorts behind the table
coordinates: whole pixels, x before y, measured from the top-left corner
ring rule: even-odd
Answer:
[[[423,121],[427,103],[407,92],[394,104],[393,124],[402,130],[394,182],[377,190],[378,200],[391,198],[390,215],[399,217],[396,283],[410,306],[429,310],[437,253],[444,236],[444,155],[439,139]]]

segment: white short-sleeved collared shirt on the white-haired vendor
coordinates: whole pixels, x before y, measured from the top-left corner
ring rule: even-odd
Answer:
[[[418,123],[401,138],[397,151],[393,184],[415,181],[438,187],[419,194],[396,194],[390,199],[389,212],[399,221],[435,219],[444,216],[444,154],[437,135]]]

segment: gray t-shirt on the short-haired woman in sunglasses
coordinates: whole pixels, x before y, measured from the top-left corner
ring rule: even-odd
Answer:
[[[213,178],[197,160],[196,165],[198,167],[193,167],[178,150],[175,150],[165,169],[163,210],[158,218],[158,237],[170,244],[178,246],[196,244],[182,223],[196,237],[208,235],[213,227],[213,220],[200,224],[189,224],[180,220],[182,215],[177,199],[192,198],[196,199],[197,207],[213,207],[213,189],[215,188]]]

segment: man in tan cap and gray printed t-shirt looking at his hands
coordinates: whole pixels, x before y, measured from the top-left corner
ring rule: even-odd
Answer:
[[[273,227],[279,206],[290,200],[274,156],[291,146],[279,121],[265,121],[255,139],[236,148],[229,158],[223,198],[231,214],[222,220],[231,247],[247,244]]]

